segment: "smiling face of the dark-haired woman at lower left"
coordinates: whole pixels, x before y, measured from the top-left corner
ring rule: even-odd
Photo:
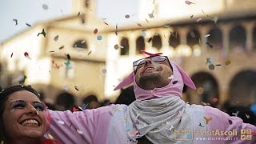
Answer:
[[[10,139],[42,138],[46,133],[45,106],[27,90],[10,94],[5,103],[2,121]]]

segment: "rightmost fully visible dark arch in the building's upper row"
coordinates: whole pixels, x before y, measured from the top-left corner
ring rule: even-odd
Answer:
[[[230,30],[230,50],[243,50],[246,47],[246,30],[242,26],[234,26]]]

